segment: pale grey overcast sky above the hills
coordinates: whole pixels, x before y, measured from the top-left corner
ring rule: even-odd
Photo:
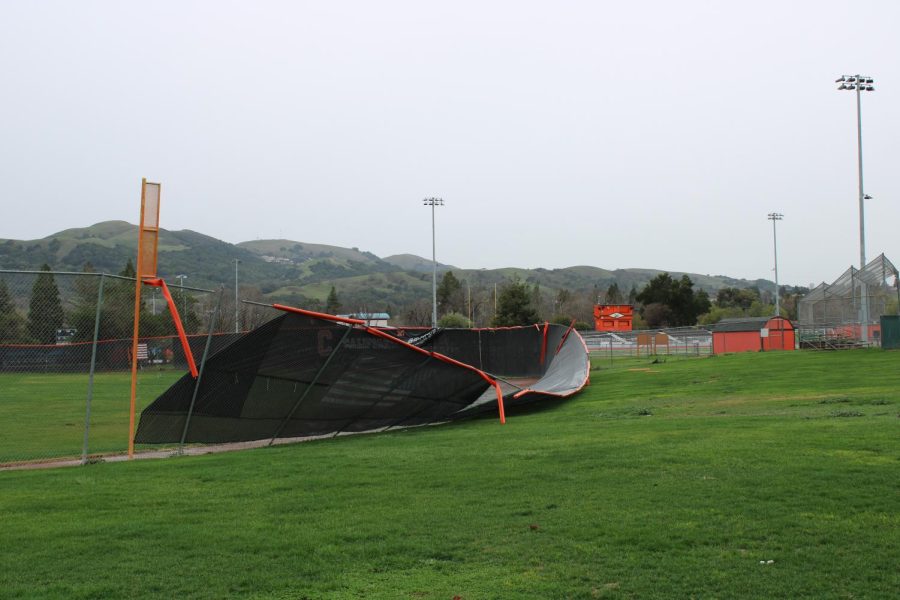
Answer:
[[[464,268],[900,263],[900,3],[0,3],[0,238],[137,222]]]

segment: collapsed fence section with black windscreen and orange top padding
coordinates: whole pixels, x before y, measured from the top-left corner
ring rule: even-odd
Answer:
[[[587,348],[560,325],[437,330],[404,342],[297,309],[211,355],[141,414],[137,443],[223,443],[425,425],[565,397]]]

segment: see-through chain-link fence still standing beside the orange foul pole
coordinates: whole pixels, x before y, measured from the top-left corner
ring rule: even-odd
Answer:
[[[207,338],[215,351],[271,318],[235,311],[224,291],[175,285],[171,296],[198,364]],[[0,467],[127,451],[134,300],[129,277],[0,270]],[[158,288],[142,289],[139,335],[138,414],[187,370]]]

